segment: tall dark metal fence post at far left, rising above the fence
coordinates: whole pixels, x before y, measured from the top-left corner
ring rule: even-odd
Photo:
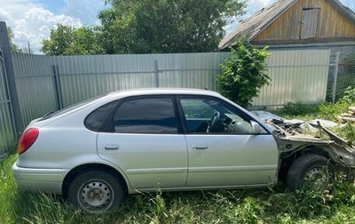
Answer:
[[[13,120],[13,130],[16,134],[16,137],[20,135],[20,132],[23,131],[22,116],[20,111],[20,103],[16,90],[15,74],[13,71],[12,64],[12,53],[10,48],[9,39],[7,36],[6,23],[0,21],[0,48],[3,50],[3,58],[5,65],[5,76],[7,77],[8,83],[8,93],[9,99],[11,101],[12,108],[12,120]]]

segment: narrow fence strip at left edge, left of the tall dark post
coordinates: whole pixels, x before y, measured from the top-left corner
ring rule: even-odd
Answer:
[[[4,57],[0,49],[0,157],[11,148],[15,139],[12,106],[8,89]]]

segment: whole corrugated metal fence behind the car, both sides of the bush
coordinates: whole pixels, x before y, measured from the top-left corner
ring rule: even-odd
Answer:
[[[270,52],[269,75],[255,106],[325,100],[330,51]],[[23,124],[48,111],[106,92],[184,87],[217,90],[230,52],[59,56],[13,54]]]

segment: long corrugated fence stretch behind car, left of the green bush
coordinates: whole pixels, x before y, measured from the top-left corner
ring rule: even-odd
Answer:
[[[229,52],[47,57],[12,54],[23,126],[48,111],[130,88],[216,90]]]

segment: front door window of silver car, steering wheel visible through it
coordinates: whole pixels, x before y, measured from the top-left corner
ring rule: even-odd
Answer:
[[[251,133],[250,120],[219,100],[180,99],[188,132]]]

